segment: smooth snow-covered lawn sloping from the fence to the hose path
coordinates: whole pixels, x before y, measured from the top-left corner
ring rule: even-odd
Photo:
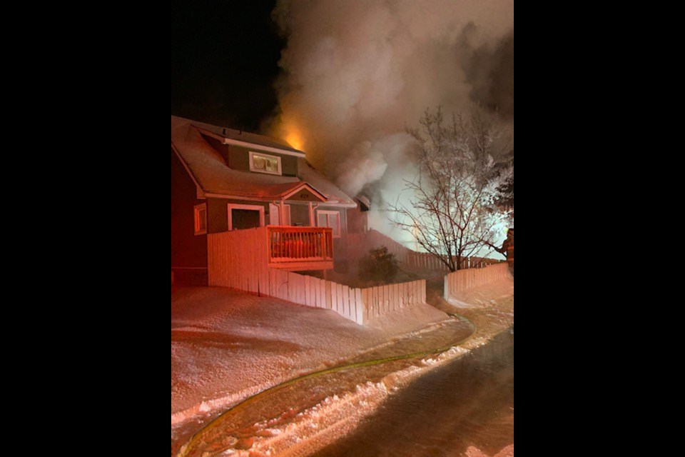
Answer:
[[[419,305],[358,326],[335,311],[278,298],[228,288],[172,288],[172,428],[445,318]]]

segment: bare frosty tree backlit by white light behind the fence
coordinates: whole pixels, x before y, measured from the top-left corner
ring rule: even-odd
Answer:
[[[416,140],[417,175],[405,181],[407,199],[390,205],[392,221],[428,253],[455,271],[470,256],[494,246],[507,214],[497,206],[499,189],[512,174],[505,156],[512,136],[478,106],[449,121],[441,108],[427,110]]]

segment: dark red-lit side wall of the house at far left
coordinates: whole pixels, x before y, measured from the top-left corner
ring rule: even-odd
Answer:
[[[196,186],[171,150],[171,271],[176,283],[207,284],[207,236],[195,235]]]

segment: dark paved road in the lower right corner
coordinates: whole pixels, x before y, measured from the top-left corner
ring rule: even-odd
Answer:
[[[317,457],[493,456],[514,442],[514,334],[426,373]]]

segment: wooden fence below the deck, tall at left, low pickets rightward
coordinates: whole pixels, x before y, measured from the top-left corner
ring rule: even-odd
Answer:
[[[207,236],[209,285],[332,309],[360,325],[426,301],[426,281],[352,288],[268,266],[267,227]]]

